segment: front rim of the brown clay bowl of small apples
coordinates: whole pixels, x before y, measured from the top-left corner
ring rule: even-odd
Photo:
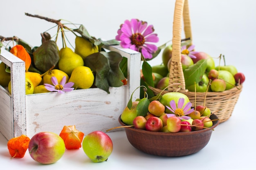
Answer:
[[[218,119],[218,116],[215,115],[215,114],[212,114],[210,116],[210,119],[211,118]],[[211,120],[213,120],[213,119],[211,119]],[[128,125],[124,124],[124,122],[121,120],[121,115],[119,116],[118,121],[119,121],[119,124],[121,124],[121,126],[128,126]],[[219,119],[216,120],[216,121],[213,121],[213,126],[211,126],[210,128],[214,129],[218,126],[218,124],[220,124]],[[194,134],[199,134],[199,133],[211,130],[209,128],[204,128],[202,130],[195,130],[195,131],[191,131],[191,132],[176,132],[176,133],[173,133],[173,132],[152,132],[152,131],[148,131],[148,130],[137,129],[137,128],[134,128],[134,127],[125,127],[125,128],[129,128],[130,130],[139,131],[139,132],[142,132],[142,133],[145,133],[145,134],[150,134],[150,135],[167,135],[167,136],[194,135]]]

